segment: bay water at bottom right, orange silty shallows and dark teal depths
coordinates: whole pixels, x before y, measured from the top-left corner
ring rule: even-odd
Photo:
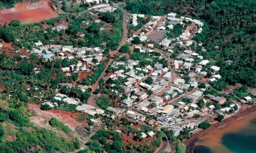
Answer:
[[[201,137],[193,152],[256,152],[256,113]]]

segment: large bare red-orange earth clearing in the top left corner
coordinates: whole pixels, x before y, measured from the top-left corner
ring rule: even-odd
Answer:
[[[49,0],[42,0],[33,4],[16,4],[14,8],[3,9],[0,11],[0,24],[13,19],[27,24],[57,17],[57,12],[52,10],[48,2]]]

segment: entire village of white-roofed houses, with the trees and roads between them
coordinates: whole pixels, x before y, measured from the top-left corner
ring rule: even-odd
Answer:
[[[247,93],[243,86],[232,91],[223,85],[217,61],[202,55],[207,49],[197,36],[204,31],[205,21],[175,12],[163,16],[131,14],[123,9],[125,6],[121,8],[109,1],[77,0],[76,3],[86,4],[89,8],[84,12],[90,14],[90,18],[78,19],[79,26],[91,33],[96,30],[102,35],[120,35],[119,44],[113,47],[116,45],[114,41],[113,44],[98,41],[91,47],[82,46],[82,40],[88,34],[84,30],[74,32],[75,39],[72,40],[79,45],[67,43],[69,40],[63,45],[54,38],[48,42],[37,40],[31,49],[15,47],[15,53],[23,60],[31,59],[31,55],[42,59],[38,61],[38,67],[33,67],[33,75],[44,75],[42,72],[46,67],[64,74],[61,82],[52,80],[56,89],[50,99],[45,98],[48,88],[26,88],[28,92],[39,92],[29,98],[42,102],[36,104],[41,110],[67,107],[65,111],[85,114],[79,124],[88,132],[92,130],[90,137],[104,127],[104,130],[114,129],[121,134],[124,143],[136,143],[138,139],[142,144],[151,144],[153,140],[160,140],[158,132],[163,129],[171,130],[175,137],[185,140],[204,129],[200,125],[202,122],[207,122],[208,126],[216,124],[255,103],[256,95]],[[123,29],[116,28],[119,26],[116,20],[103,20],[105,13],[109,13],[109,20],[113,19],[112,13],[122,14]],[[67,21],[48,26],[42,32],[45,35],[70,31]],[[116,29],[113,30],[114,26]],[[23,40],[16,39],[16,42]],[[0,47],[5,48],[2,43]],[[214,48],[217,50],[219,46]],[[233,61],[225,63],[229,65]],[[9,94],[9,98],[11,96]],[[109,118],[115,122],[115,128],[108,124]],[[127,130],[127,124],[133,132]],[[161,145],[166,142],[163,140]],[[162,151],[173,149],[173,146],[168,146],[172,147],[169,150],[163,146],[156,148]]]

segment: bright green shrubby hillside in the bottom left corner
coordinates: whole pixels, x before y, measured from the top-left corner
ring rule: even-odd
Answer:
[[[77,138],[67,140],[30,123],[30,112],[24,106],[15,107],[13,101],[0,100],[0,108],[0,152],[72,152],[81,146]],[[9,136],[15,139],[6,141]]]

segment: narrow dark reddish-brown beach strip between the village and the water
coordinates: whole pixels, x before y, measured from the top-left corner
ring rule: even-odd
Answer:
[[[217,122],[216,124],[212,124],[206,130],[201,130],[201,131],[195,133],[192,137],[190,137],[189,139],[186,139],[184,141],[184,144],[187,146],[186,152],[193,152],[193,150],[195,148],[194,147],[195,141],[197,141],[202,136],[209,134],[209,133],[211,133],[217,129],[220,129],[222,127],[225,127],[226,125],[229,125],[232,122],[235,122],[237,120],[240,120],[242,118],[250,116],[250,115],[254,114],[255,112],[256,112],[256,105],[252,105],[251,107],[241,110],[240,112],[238,112],[237,114],[235,114],[232,117],[229,117],[221,122]]]

